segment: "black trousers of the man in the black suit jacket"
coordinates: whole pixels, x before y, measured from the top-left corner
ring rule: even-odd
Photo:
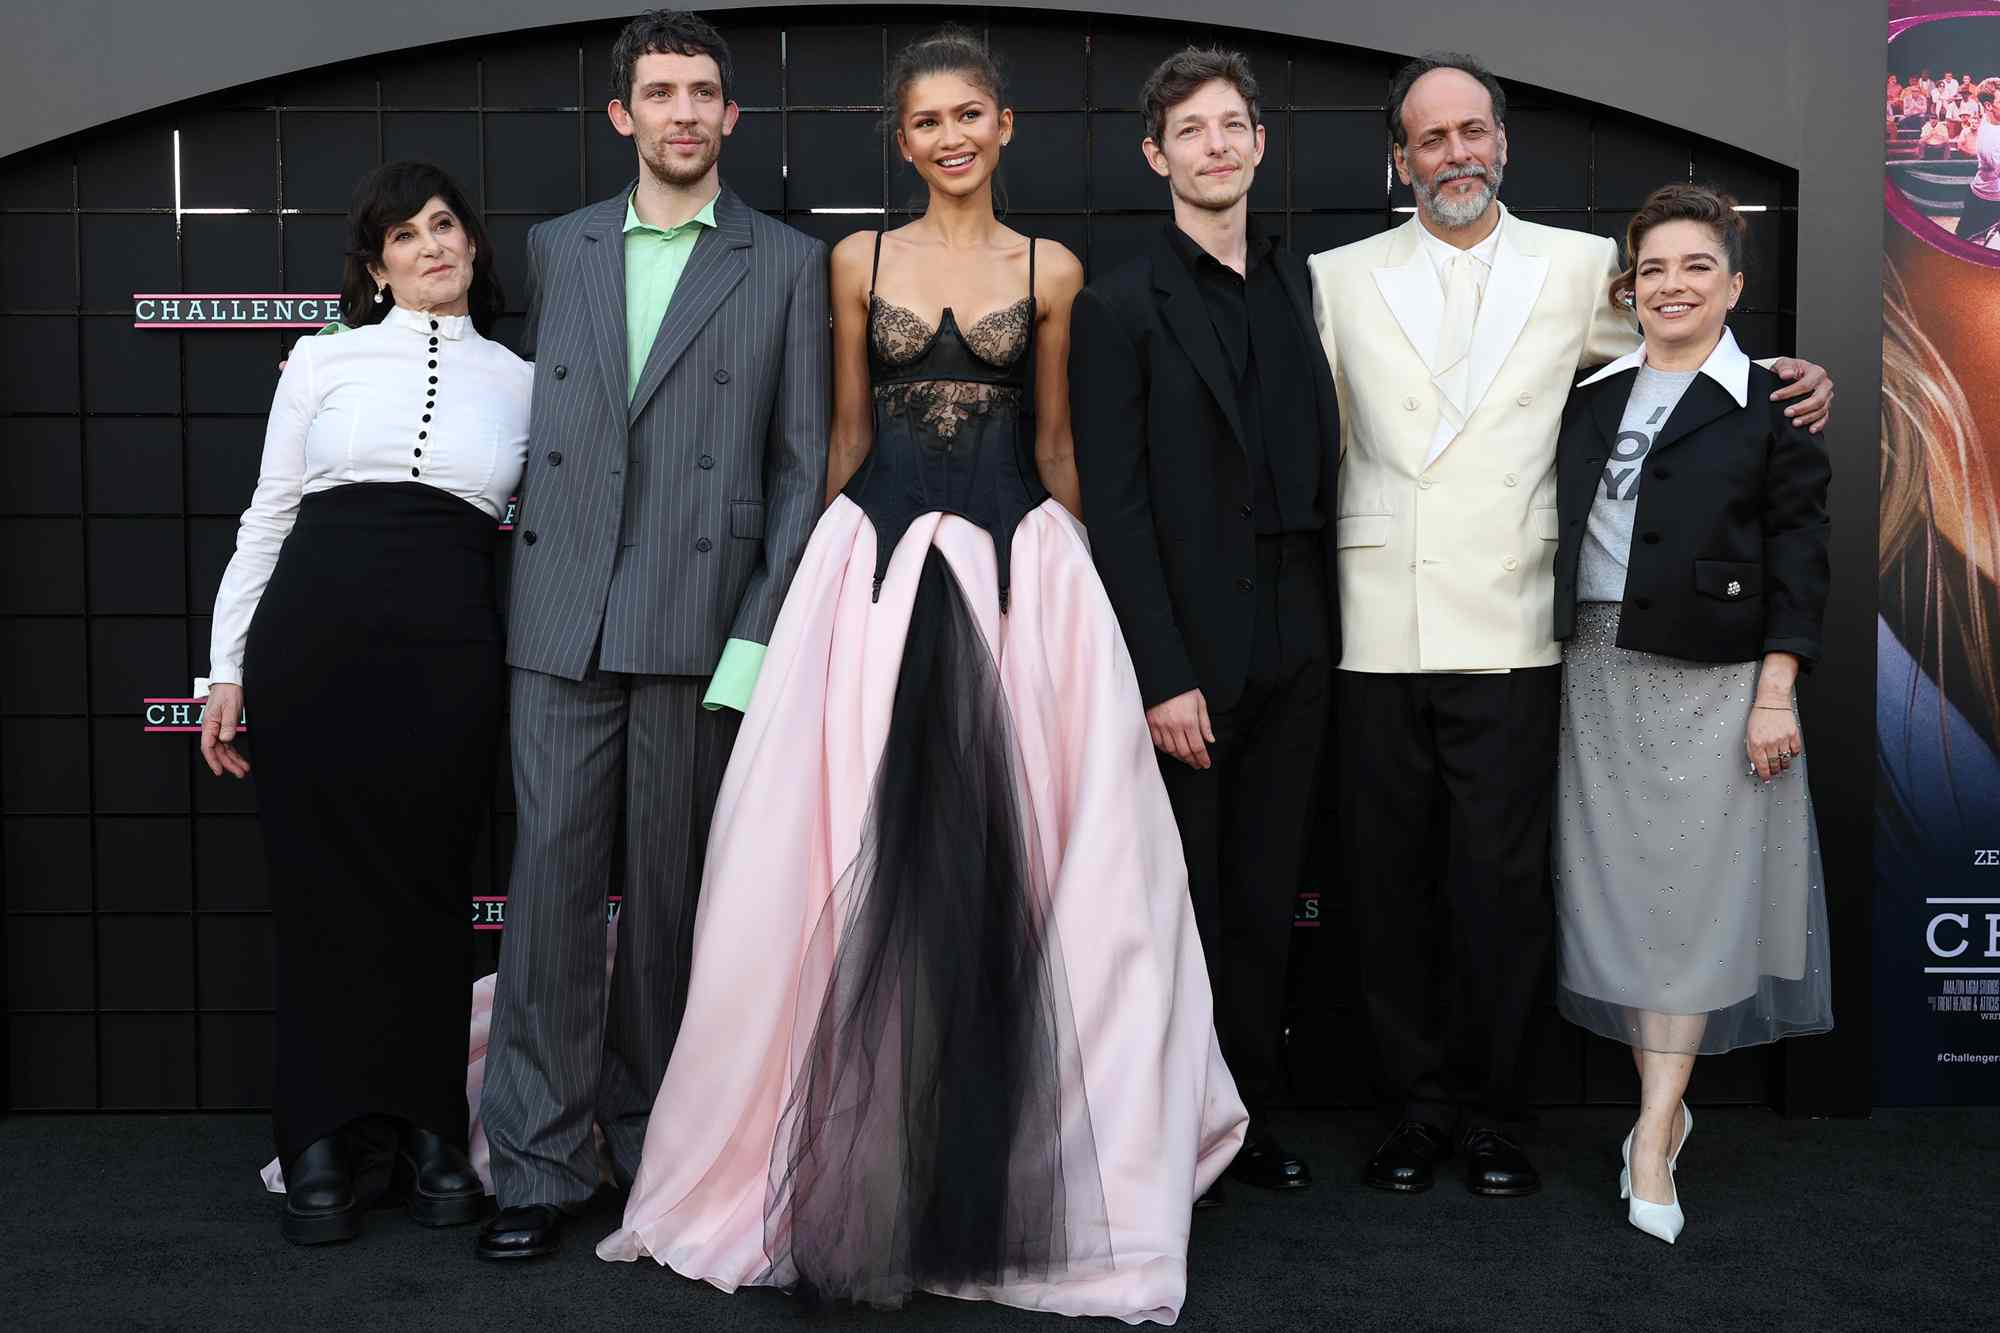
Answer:
[[[1292,905],[1332,703],[1320,536],[1260,536],[1256,554],[1250,671],[1236,703],[1208,713],[1212,767],[1160,755],[1216,995],[1216,1037],[1252,1125],[1282,1081]]]

